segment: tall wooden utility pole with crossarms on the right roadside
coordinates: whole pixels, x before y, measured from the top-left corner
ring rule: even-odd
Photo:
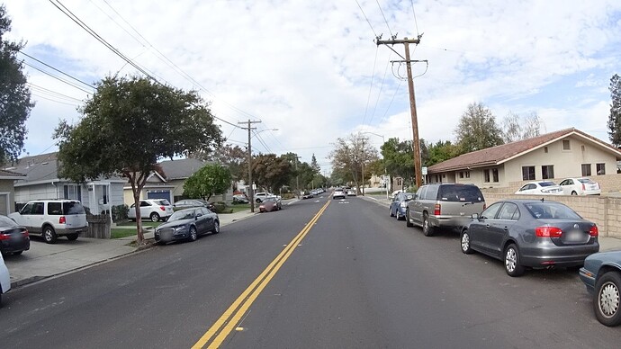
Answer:
[[[394,37],[392,40],[380,40],[378,37],[375,42],[377,45],[394,45],[394,44],[403,44],[405,47],[405,64],[408,71],[408,89],[410,90],[410,113],[412,115],[412,133],[413,133],[413,142],[414,142],[414,174],[416,177],[416,187],[420,188],[422,185],[422,171],[420,165],[420,139],[419,139],[419,121],[416,115],[416,98],[414,97],[414,81],[412,79],[412,67],[410,60],[410,43],[418,45],[420,43],[419,35],[417,39],[408,39],[403,38],[403,40],[395,40]],[[403,62],[403,61],[400,61]],[[414,61],[416,62],[416,61]]]

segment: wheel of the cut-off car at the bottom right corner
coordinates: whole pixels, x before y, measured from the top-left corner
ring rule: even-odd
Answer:
[[[598,321],[606,326],[621,324],[621,311],[619,311],[619,289],[621,289],[621,274],[608,272],[598,279],[595,284],[595,297],[593,297],[593,309]]]

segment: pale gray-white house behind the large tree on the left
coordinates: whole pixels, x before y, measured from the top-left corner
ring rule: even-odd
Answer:
[[[15,206],[21,207],[37,199],[73,199],[81,201],[92,213],[110,210],[122,205],[123,185],[121,177],[102,178],[86,183],[75,183],[58,178],[58,153],[23,157],[7,168],[23,177],[14,180]]]

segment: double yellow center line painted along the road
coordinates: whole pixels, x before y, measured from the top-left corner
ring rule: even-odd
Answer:
[[[293,250],[297,247],[306,234],[311,231],[312,226],[320,219],[321,214],[328,208],[330,201],[327,201],[326,204],[321,207],[320,211],[317,212],[315,217],[309,221],[302,231],[296,236],[293,237],[293,240],[284,247],[284,250],[276,256],[275,260],[270,263],[266,270],[261,273],[254,282],[247,287],[246,291],[243,291],[237,300],[230,305],[229,309],[227,309],[224,314],[216,322],[211,326],[211,328],[202,335],[201,339],[196,342],[192,347],[193,348],[202,348],[207,343],[211,341],[211,344],[208,346],[209,348],[218,348],[224,342],[227,336],[235,329],[238,325],[239,320],[246,314],[247,309],[250,308],[252,303],[257,300],[261,291],[266,288],[267,284],[274,278],[275,274],[278,273],[281,266],[283,266],[284,262],[289,258],[291,254],[293,254]],[[222,327],[224,327],[222,329]],[[220,330],[221,329],[221,330]],[[220,332],[219,332],[220,331]],[[217,335],[217,336],[216,336]]]

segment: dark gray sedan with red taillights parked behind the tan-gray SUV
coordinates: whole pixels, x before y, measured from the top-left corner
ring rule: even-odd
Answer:
[[[473,251],[504,261],[509,276],[525,267],[575,267],[599,251],[598,226],[556,201],[494,202],[462,229],[464,254]]]

